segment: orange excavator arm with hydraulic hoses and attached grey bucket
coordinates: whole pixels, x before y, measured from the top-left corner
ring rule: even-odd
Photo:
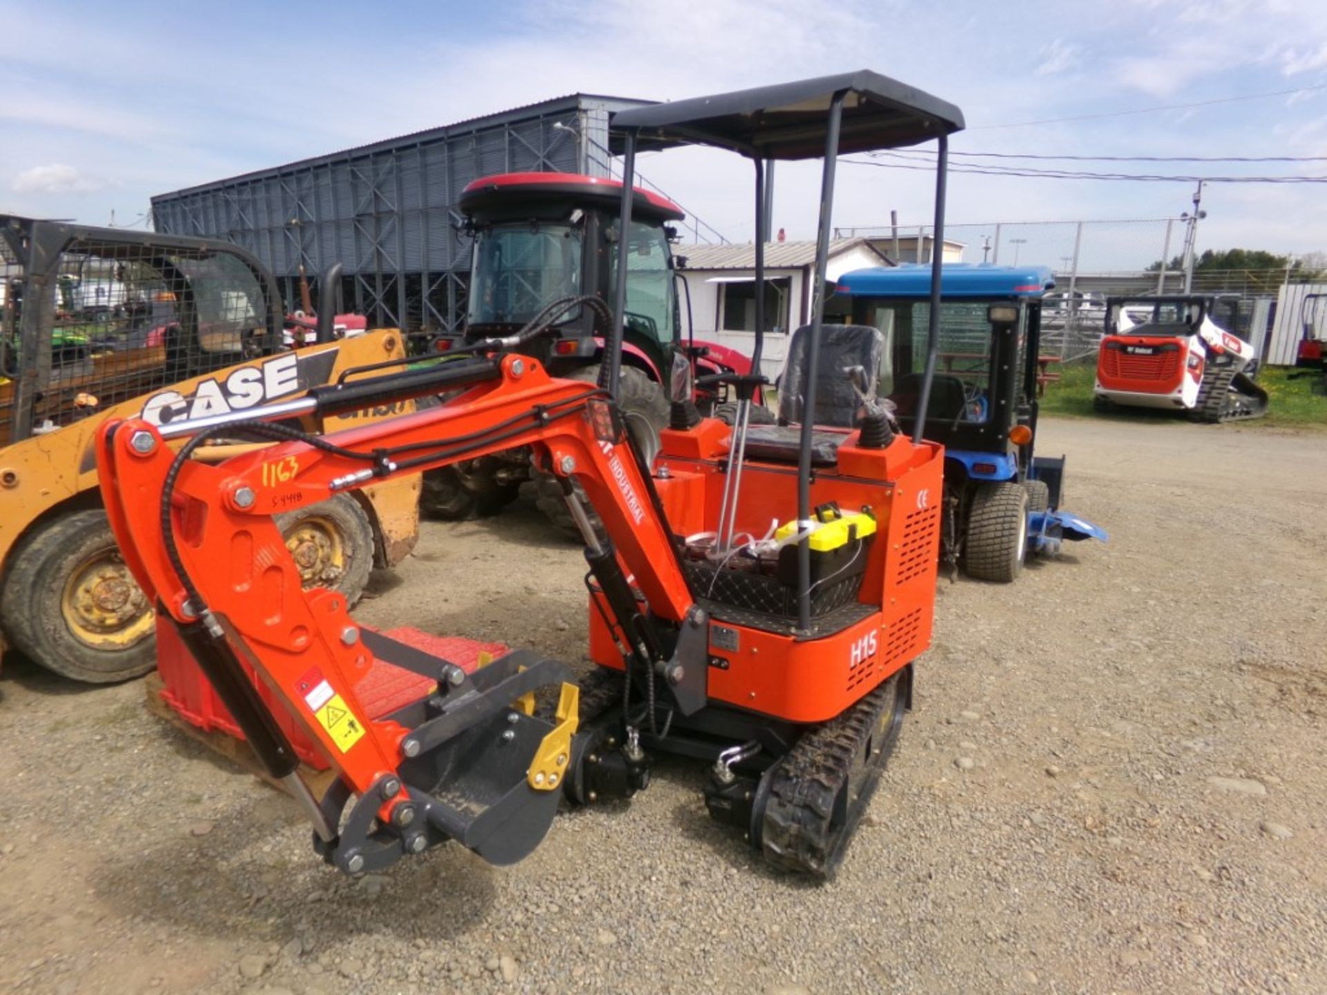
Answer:
[[[280,421],[443,390],[454,395],[442,405],[329,435]],[[216,464],[190,458],[219,436],[277,444]],[[174,439],[187,442],[176,447]],[[467,674],[361,629],[336,592],[301,589],[272,516],[516,446],[531,446],[567,482],[576,509],[572,479],[598,512],[616,548],[587,523],[591,570],[617,616],[626,655],[664,673],[675,649],[667,633],[685,628],[695,608],[649,475],[604,391],[552,379],[529,357],[352,379],[244,417],[165,427],[125,419],[101,430],[102,496],[129,568],[179,629],[271,773],[307,804],[316,846],[342,870],[372,870],[447,838],[494,862],[525,856],[556,812],[576,689],[564,665],[529,650]],[[648,620],[622,565],[645,594]],[[437,690],[372,719],[356,685],[374,658],[435,679]],[[703,667],[694,670],[703,677]],[[548,686],[563,689],[552,720],[531,707],[532,693]],[[271,699],[336,769],[324,799],[300,781]]]

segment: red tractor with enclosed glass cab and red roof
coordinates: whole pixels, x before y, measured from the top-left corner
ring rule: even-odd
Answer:
[[[572,172],[506,172],[482,176],[460,194],[463,231],[474,239],[466,326],[458,337],[437,341],[441,353],[502,338],[569,295],[612,300],[621,240],[622,183]],[[620,403],[646,454],[658,450],[669,422],[666,383],[682,369],[695,377],[746,374],[751,361],[717,342],[683,334],[682,306],[671,241],[685,218],[681,207],[636,187],[626,233],[626,310],[622,318]],[[608,313],[584,304],[553,316],[553,332],[537,345],[537,358],[557,377],[601,381]],[[695,391],[710,414],[730,403],[722,385]],[[722,414],[722,411],[721,411]],[[446,519],[491,515],[516,498],[522,486],[548,517],[579,536],[561,491],[547,475],[532,472],[528,451],[466,460],[425,484],[423,507]]]

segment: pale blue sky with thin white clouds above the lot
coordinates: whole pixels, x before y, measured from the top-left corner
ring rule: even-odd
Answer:
[[[967,129],[951,141],[955,163],[974,162],[958,153],[1327,157],[1327,3],[1319,0],[816,7],[405,0],[370,11],[336,0],[0,0],[0,211],[90,224],[114,212],[118,224],[145,226],[153,194],[569,93],[677,100],[864,68],[963,110]],[[1269,93],[1281,96],[1229,100]],[[1121,113],[1196,103],[1206,106]],[[977,162],[1327,176],[1327,158]],[[746,162],[682,150],[645,157],[640,168],[729,239],[750,239]],[[790,239],[815,233],[819,178],[817,163],[776,171],[775,227]],[[1188,182],[954,172],[947,219],[1173,218],[1192,210],[1192,196]],[[890,210],[905,226],[929,222],[930,176],[840,165],[836,226],[888,224]],[[1327,184],[1213,183],[1202,210],[1200,249],[1327,251]],[[1132,249],[1140,265],[1148,253],[1160,256],[1156,231],[1137,236],[1147,240]],[[1009,237],[1006,231],[1002,241]]]

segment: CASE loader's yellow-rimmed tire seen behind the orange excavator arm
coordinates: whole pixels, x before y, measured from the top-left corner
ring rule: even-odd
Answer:
[[[354,498],[338,494],[273,521],[305,588],[340,590],[346,608],[360,600],[373,570],[373,525]]]

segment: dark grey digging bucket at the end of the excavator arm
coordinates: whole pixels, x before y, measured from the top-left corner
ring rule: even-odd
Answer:
[[[378,659],[438,678],[438,690],[390,716],[409,730],[398,776],[356,799],[341,834],[332,842],[314,838],[314,846],[350,874],[446,840],[491,864],[528,856],[557,813],[576,731],[579,691],[568,667],[516,650],[466,674],[381,633],[365,630],[364,641]],[[533,693],[549,686],[561,689],[557,712],[537,718]],[[399,791],[409,805],[397,805],[385,825],[378,809]],[[333,824],[349,800],[341,781],[328,791],[321,807]]]

